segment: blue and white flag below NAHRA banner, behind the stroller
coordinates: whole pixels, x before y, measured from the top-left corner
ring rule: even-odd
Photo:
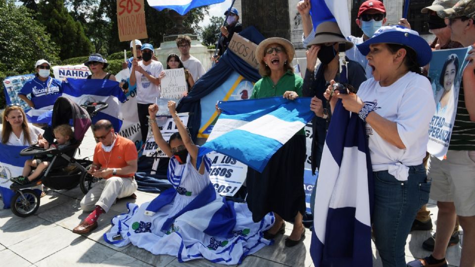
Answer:
[[[106,102],[109,106],[91,118],[93,124],[99,120],[109,120],[115,132],[120,131],[122,118],[120,106],[127,101],[118,82],[96,79],[70,79],[63,83],[63,95],[82,105],[85,102]]]

